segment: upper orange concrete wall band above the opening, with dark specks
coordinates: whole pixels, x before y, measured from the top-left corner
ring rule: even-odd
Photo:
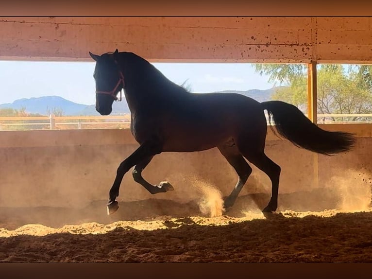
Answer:
[[[371,63],[372,17],[0,17],[0,59]]]

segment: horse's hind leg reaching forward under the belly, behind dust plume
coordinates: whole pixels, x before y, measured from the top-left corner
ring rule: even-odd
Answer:
[[[231,166],[234,167],[237,172],[238,179],[237,184],[235,185],[234,190],[230,193],[228,197],[224,200],[224,207],[228,209],[232,207],[239,195],[239,192],[243,188],[245,182],[249,175],[252,173],[252,168],[248,165],[246,160],[240,155],[237,147],[235,145],[221,145],[218,146],[221,154],[226,158]]]

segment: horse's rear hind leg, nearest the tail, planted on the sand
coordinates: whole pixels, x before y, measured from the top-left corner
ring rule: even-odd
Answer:
[[[264,150],[257,151],[254,148],[249,148],[248,145],[242,144],[238,146],[241,154],[253,163],[257,168],[267,174],[271,180],[271,199],[268,206],[263,209],[263,212],[275,211],[278,207],[278,190],[280,166],[275,164],[269,157],[266,156]]]

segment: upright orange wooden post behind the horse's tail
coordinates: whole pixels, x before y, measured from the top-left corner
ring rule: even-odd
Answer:
[[[317,95],[317,62],[310,62],[307,65],[307,113],[308,118],[314,124],[318,124],[318,95]],[[313,155],[313,185],[319,187],[319,155]]]

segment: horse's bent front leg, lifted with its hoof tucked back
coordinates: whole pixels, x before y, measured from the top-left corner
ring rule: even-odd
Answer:
[[[147,157],[135,165],[135,168],[132,172],[133,179],[152,194],[173,191],[174,189],[172,185],[170,185],[170,183],[167,181],[160,182],[159,185],[152,185],[142,177],[142,171],[150,163],[152,158],[153,156]]]

